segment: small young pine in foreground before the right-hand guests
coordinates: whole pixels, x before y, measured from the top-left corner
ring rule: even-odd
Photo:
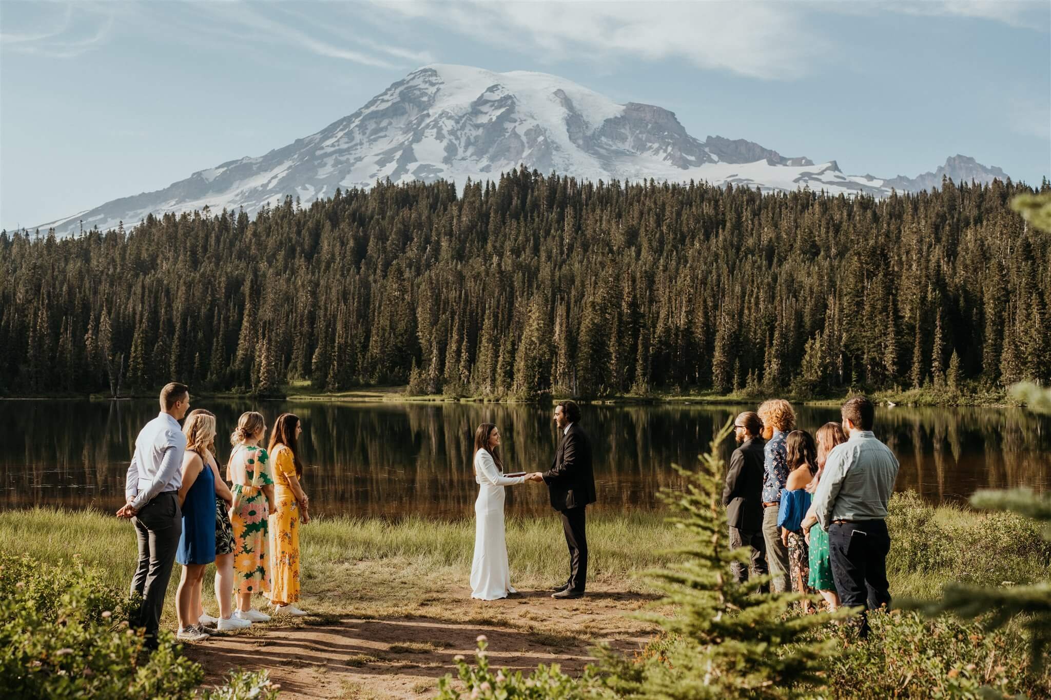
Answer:
[[[660,658],[626,659],[605,649],[602,665],[607,685],[618,697],[666,698],[781,698],[812,695],[822,684],[823,670],[838,654],[834,638],[815,640],[813,632],[830,619],[851,611],[800,617],[794,593],[759,593],[768,576],[738,584],[730,564],[746,563],[747,548],[730,552],[726,513],[722,505],[725,462],[722,444],[729,436],[727,421],[713,438],[701,466],[689,471],[676,466],[684,491],[664,492],[676,515],[669,518],[682,532],[684,557],[650,572],[664,593],[672,616],[643,617],[659,625],[674,641]],[[771,650],[778,650],[772,653]],[[807,687],[809,686],[809,687]]]

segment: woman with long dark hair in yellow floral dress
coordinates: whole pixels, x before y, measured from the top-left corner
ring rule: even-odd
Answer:
[[[303,427],[292,413],[282,413],[270,433],[270,459],[274,468],[276,508],[270,514],[270,555],[272,588],[270,602],[274,613],[306,615],[295,607],[300,599],[300,524],[310,522],[309,499],[300,479],[303,465],[298,458]]]

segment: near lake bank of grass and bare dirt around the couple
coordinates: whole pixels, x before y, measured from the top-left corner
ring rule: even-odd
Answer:
[[[1022,584],[1049,575],[1049,545],[1032,523],[1009,513],[935,508],[905,494],[892,499],[888,525],[893,538],[888,575],[899,599],[936,596],[950,580]],[[291,697],[433,693],[436,679],[454,670],[452,657],[470,656],[478,634],[489,636],[499,665],[524,671],[556,662],[576,675],[596,643],[630,653],[652,637],[654,629],[630,615],[654,599],[641,574],[666,564],[671,557],[662,552],[676,547],[679,536],[659,513],[590,519],[591,595],[570,604],[547,593],[564,577],[568,564],[553,513],[508,521],[520,598],[470,599],[473,539],[470,518],[318,519],[305,526],[302,536],[303,607],[314,614],[260,624],[187,646],[185,653],[204,664],[209,680],[234,665],[266,667]],[[135,567],[130,526],[98,511],[2,511],[0,551],[32,553],[50,564],[79,556],[119,590]],[[178,567],[166,600],[169,627],[177,577]],[[214,612],[210,590],[208,578],[205,607]],[[965,661],[984,667],[988,653],[974,644],[973,658]],[[998,653],[1004,658],[996,663],[1008,663],[1007,651]]]

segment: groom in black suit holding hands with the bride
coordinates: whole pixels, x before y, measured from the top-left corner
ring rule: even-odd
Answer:
[[[543,481],[551,491],[551,506],[562,514],[565,544],[570,548],[570,579],[555,588],[553,598],[579,598],[588,578],[588,537],[584,511],[595,503],[591,441],[580,427],[580,407],[572,401],[555,406],[555,424],[562,432],[558,451]]]

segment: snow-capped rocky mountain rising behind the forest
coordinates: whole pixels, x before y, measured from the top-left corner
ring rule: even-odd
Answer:
[[[764,191],[809,187],[882,196],[890,188],[940,186],[942,174],[982,182],[1006,177],[955,156],[934,173],[882,179],[845,175],[834,161],[785,157],[759,144],[722,136],[699,141],[675,114],[654,105],[619,105],[571,81],[516,70],[431,65],[415,70],[350,116],[266,155],[201,170],[156,192],[114,199],[43,224],[59,233],[130,227],[148,213],[243,207],[254,214],[286,195],[304,204],[336,188],[438,178],[458,185],[498,178],[524,164],[590,181],[707,181]]]

